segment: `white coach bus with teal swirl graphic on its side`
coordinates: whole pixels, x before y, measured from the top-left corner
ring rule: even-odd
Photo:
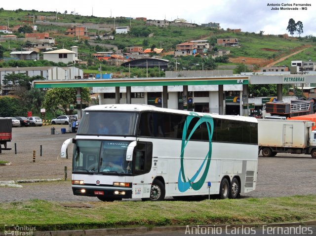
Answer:
[[[84,109],[61,157],[74,143],[74,195],[160,201],[210,192],[235,199],[256,187],[257,125],[251,117],[95,105]]]

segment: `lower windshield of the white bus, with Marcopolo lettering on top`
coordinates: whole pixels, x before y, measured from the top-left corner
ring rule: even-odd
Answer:
[[[129,143],[130,141],[76,140],[73,171],[131,174],[131,162],[126,161]]]

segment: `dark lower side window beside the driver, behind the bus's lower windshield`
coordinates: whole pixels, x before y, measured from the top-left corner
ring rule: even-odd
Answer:
[[[138,142],[135,152],[135,174],[148,173],[152,168],[153,144]]]

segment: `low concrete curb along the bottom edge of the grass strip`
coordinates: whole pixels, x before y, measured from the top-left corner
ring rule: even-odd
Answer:
[[[291,223],[273,223],[273,224],[231,224],[231,225],[199,225],[199,227],[218,227],[218,228],[238,228],[238,227],[291,227],[298,225],[315,225],[316,220],[304,221],[304,222],[291,222]],[[191,227],[197,227],[197,225],[190,225]],[[34,236],[104,236],[104,235],[126,235],[126,234],[146,234],[155,232],[185,232],[187,226],[164,226],[164,227],[137,227],[137,228],[109,228],[109,229],[92,229],[92,230],[65,230],[65,231],[45,231],[45,232],[33,232]],[[0,236],[3,236],[0,233]]]

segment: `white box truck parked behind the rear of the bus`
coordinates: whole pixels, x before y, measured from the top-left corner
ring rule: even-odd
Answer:
[[[258,119],[258,145],[264,157],[278,152],[316,158],[316,130],[311,121]]]

